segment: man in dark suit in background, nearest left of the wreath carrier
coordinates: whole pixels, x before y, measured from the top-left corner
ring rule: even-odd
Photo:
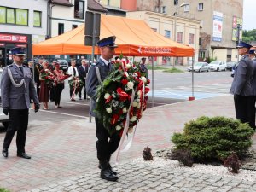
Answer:
[[[85,78],[86,78],[86,75],[88,73],[88,67],[89,67],[89,61],[88,60],[82,60],[82,65],[78,67],[79,78],[84,83],[83,87],[79,90],[79,100],[82,99],[82,90],[84,91],[84,99],[86,99]]]

